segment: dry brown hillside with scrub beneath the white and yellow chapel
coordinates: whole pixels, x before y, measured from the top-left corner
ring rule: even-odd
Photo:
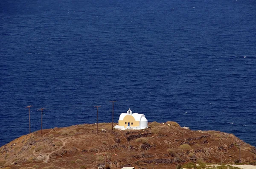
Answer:
[[[171,124],[170,126],[167,124]],[[193,131],[175,122],[153,122],[150,129],[114,130],[109,123],[81,124],[33,132],[0,148],[0,168],[6,169],[96,169],[104,158],[96,153],[116,153],[107,158],[111,169],[174,168],[178,163],[247,163],[256,160],[256,149],[232,134]],[[105,129],[106,132],[101,130]],[[9,168],[8,168],[9,167]]]

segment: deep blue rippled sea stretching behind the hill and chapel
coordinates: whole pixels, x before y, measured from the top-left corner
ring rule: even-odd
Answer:
[[[256,146],[255,0],[1,0],[0,146],[114,121],[233,133]]]

